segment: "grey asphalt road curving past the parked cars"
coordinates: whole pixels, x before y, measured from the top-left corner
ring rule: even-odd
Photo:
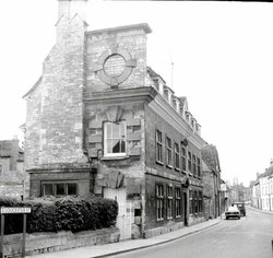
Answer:
[[[223,223],[175,242],[126,253],[119,258],[272,258],[273,214],[247,209],[240,220]]]

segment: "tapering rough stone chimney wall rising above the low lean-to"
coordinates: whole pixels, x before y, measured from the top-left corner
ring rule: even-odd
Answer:
[[[57,24],[57,44],[27,96],[26,169],[50,164],[86,164],[83,154],[85,23],[75,15]]]

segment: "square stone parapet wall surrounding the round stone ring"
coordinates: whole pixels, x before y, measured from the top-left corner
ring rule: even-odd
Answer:
[[[111,55],[119,49],[128,52],[128,59],[135,60],[130,77],[119,84],[119,89],[139,87],[145,85],[146,77],[146,33],[151,28],[146,24],[91,31],[87,40],[87,91],[107,91],[109,85],[99,80],[98,69],[102,69],[100,58],[104,54]],[[122,55],[123,56],[123,55]]]

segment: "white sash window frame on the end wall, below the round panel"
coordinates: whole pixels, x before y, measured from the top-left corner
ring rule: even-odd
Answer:
[[[122,138],[122,136],[120,136],[120,130],[119,129],[119,138],[107,138],[107,125],[122,125],[123,126],[123,131],[124,131],[124,136]],[[108,153],[108,140],[115,140],[115,139],[118,139],[119,142],[121,142],[123,140],[124,142],[124,152],[118,152],[118,153],[112,153],[112,152],[109,152]],[[105,157],[116,157],[116,156],[126,156],[127,155],[127,125],[126,125],[126,121],[122,120],[122,121],[117,121],[117,122],[112,122],[112,121],[105,121],[104,122],[104,156]]]

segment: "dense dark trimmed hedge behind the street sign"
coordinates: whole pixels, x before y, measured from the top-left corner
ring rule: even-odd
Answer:
[[[99,197],[37,198],[17,201],[0,197],[0,207],[31,207],[26,232],[88,231],[116,224],[118,203]],[[4,234],[22,232],[23,215],[7,214]]]

